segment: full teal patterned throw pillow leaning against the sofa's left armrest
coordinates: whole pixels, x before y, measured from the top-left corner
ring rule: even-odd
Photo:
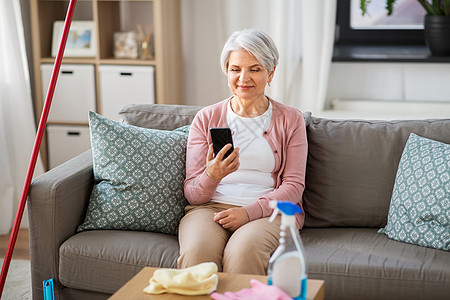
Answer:
[[[119,123],[89,112],[94,187],[78,231],[175,235],[184,215],[188,126],[173,131]]]

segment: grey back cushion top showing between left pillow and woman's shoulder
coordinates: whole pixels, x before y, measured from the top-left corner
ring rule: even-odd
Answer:
[[[127,124],[154,129],[173,130],[192,123],[202,106],[170,104],[131,104],[119,111]]]

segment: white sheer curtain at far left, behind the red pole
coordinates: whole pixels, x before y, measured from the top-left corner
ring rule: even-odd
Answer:
[[[36,129],[19,0],[0,1],[0,233],[12,227]],[[38,160],[35,174],[42,174]],[[22,222],[28,224],[26,215]]]

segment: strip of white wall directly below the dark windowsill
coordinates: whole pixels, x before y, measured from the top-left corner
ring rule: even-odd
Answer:
[[[450,64],[333,63],[327,100],[339,98],[450,104]]]

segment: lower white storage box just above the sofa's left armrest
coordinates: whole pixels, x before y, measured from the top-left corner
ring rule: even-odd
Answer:
[[[48,125],[48,164],[52,169],[89,150],[89,126]]]

